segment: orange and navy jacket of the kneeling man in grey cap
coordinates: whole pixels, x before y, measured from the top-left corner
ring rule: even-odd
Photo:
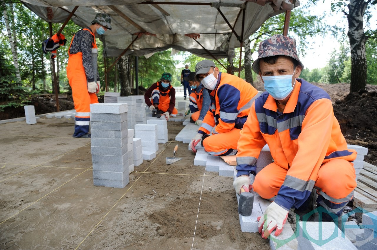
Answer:
[[[210,93],[211,105],[198,133],[209,134],[216,126],[217,133],[234,127],[242,129],[251,104],[259,92],[241,78],[219,72],[216,88]]]

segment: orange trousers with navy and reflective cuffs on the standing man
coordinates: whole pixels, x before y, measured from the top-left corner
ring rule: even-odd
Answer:
[[[74,137],[80,137],[89,132],[90,104],[98,103],[97,95],[88,92],[82,55],[69,56],[67,77],[76,109]]]

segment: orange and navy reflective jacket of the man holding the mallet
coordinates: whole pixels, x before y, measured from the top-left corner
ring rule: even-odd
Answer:
[[[347,149],[329,95],[302,79],[296,79],[283,113],[267,92],[255,100],[238,141],[237,176],[255,174],[266,143],[274,162],[288,170],[275,198],[287,209],[305,198],[305,190],[313,189],[322,164],[356,159],[356,152]]]

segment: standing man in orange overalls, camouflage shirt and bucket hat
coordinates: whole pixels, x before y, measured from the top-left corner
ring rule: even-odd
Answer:
[[[97,65],[97,61],[94,61],[97,60],[95,35],[103,35],[110,30],[110,22],[109,15],[98,13],[92,25],[75,33],[69,45],[67,77],[76,109],[73,134],[76,138],[90,138],[90,104],[98,103],[96,94],[101,87],[97,68],[93,68],[93,63]],[[97,71],[97,74],[94,71]]]

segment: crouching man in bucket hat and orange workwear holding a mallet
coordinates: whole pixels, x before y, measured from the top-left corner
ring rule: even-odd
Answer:
[[[251,106],[241,130],[233,183],[236,192],[252,188],[273,201],[258,218],[264,239],[275,229],[275,236],[282,232],[291,208],[303,220],[310,220],[316,209],[322,221],[338,223],[356,187],[352,164],[356,152],[347,149],[329,95],[297,79],[303,65],[296,41],[290,37],[273,35],[262,41],[252,68],[261,76],[266,92]],[[249,175],[255,175],[265,144],[274,162],[256,174],[250,185]]]

